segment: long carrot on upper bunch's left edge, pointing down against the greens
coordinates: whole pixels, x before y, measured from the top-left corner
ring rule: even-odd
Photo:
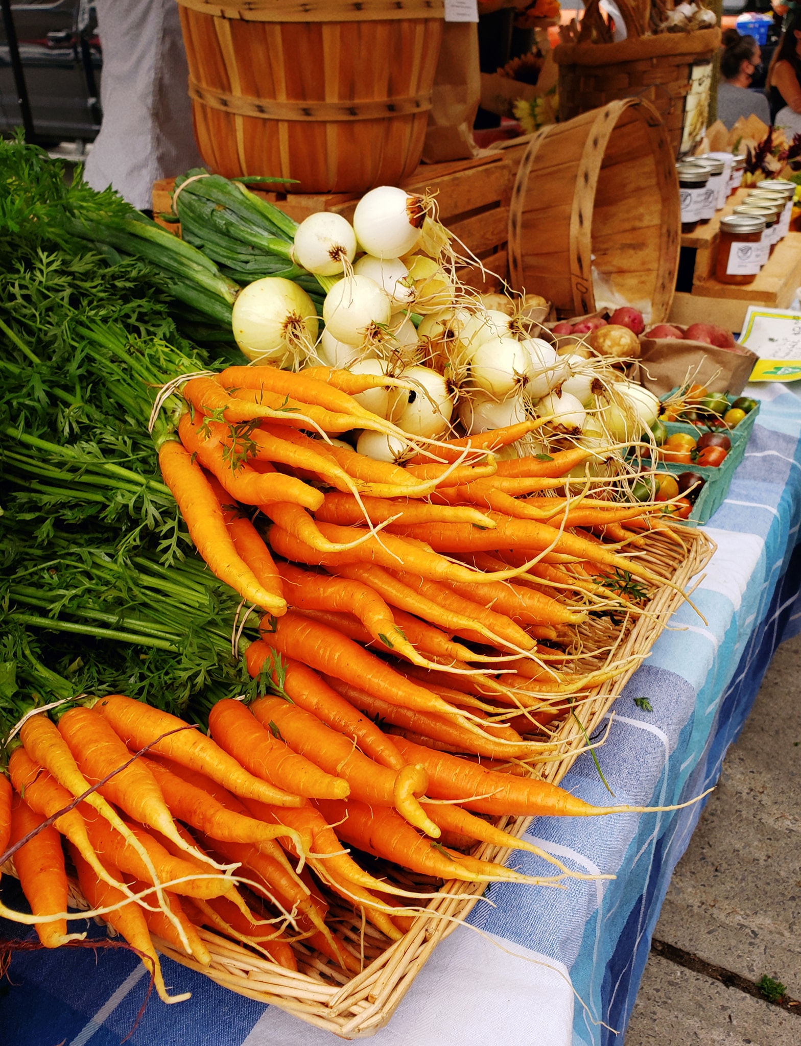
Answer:
[[[189,537],[211,572],[257,607],[273,614],[283,613],[287,608],[283,599],[265,589],[237,553],[220,502],[191,455],[181,444],[167,440],[159,450],[159,465],[189,528]]]

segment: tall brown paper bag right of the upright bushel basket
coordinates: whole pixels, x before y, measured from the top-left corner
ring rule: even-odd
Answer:
[[[473,123],[481,95],[479,75],[477,24],[445,22],[422,146],[424,163],[465,160],[478,155]]]

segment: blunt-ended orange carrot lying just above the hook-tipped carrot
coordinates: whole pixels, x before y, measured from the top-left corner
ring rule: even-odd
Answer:
[[[278,659],[273,649],[261,639],[248,646],[245,659],[251,676],[258,676],[267,667],[273,682],[280,684],[291,701],[307,712],[313,712],[334,730],[350,737],[369,758],[391,770],[400,770],[406,766],[406,760],[391,740],[374,723],[361,715],[323,682],[317,673],[300,661],[290,657]],[[277,670],[276,660],[282,662],[280,673]]]

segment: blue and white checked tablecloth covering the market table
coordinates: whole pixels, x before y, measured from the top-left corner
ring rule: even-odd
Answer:
[[[707,531],[718,550],[695,592],[616,702],[599,750],[611,799],[589,755],[564,784],[598,804],[667,805],[717,779],[773,651],[801,630],[801,400],[751,390],[761,413],[729,496]],[[653,711],[635,698],[647,698]],[[617,876],[567,890],[491,887],[470,925],[434,953],[377,1046],[607,1046],[620,1039],[671,871],[701,813],[540,820],[529,838],[568,865]],[[516,852],[524,871],[546,867]],[[6,894],[15,886],[4,882]],[[13,900],[13,896],[9,897]],[[99,931],[97,931],[99,933]],[[0,925],[0,936],[14,933]],[[331,1046],[335,1038],[170,961],[192,998],[154,999],[131,1046]],[[119,1046],[146,979],[125,953],[18,952],[0,984],[2,1046]]]

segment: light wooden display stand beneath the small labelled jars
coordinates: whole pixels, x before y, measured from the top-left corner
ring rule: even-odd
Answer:
[[[748,189],[737,189],[714,218],[694,232],[682,234],[682,247],[695,251],[691,293],[677,292],[669,323],[719,323],[741,331],[750,304],[786,309],[801,286],[801,232],[788,232],[776,246],[753,283],[734,287],[713,276],[717,257],[720,219],[731,214],[746,199]]]

